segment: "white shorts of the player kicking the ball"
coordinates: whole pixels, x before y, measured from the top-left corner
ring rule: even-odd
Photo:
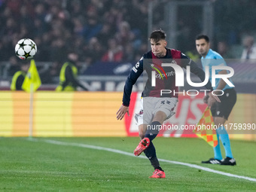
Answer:
[[[166,114],[166,120],[169,119],[175,114],[174,110],[177,102],[178,99],[175,97],[143,97],[140,109],[135,115],[137,124],[150,124],[157,111],[163,111]]]

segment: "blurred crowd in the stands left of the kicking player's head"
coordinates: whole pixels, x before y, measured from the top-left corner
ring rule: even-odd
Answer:
[[[25,37],[37,44],[37,61],[53,62],[51,75],[59,75],[70,50],[87,66],[135,60],[147,50],[147,2],[0,0],[0,60],[14,62],[15,44]]]

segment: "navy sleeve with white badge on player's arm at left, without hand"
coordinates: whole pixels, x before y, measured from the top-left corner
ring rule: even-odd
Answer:
[[[139,76],[142,75],[143,58],[144,57],[142,56],[139,62],[137,62],[136,65],[133,66],[133,69],[131,70],[130,74],[126,78],[126,82],[123,88],[123,105],[124,106],[130,105],[130,96],[132,94],[133,85],[136,83]]]

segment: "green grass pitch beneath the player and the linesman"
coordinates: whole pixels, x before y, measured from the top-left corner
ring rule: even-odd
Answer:
[[[132,154],[138,143],[139,138],[2,137],[0,191],[256,191],[256,181],[168,162],[160,162],[166,178],[148,178],[154,169],[147,159],[84,147]],[[160,159],[256,179],[256,142],[231,140],[237,166],[201,164],[213,156],[203,139],[157,137],[154,145]]]

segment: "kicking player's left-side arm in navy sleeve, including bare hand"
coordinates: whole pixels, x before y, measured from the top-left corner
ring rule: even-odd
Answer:
[[[143,72],[143,58],[136,63],[136,66],[130,72],[130,75],[126,78],[126,82],[123,88],[123,104],[117,111],[117,120],[122,120],[124,115],[129,114],[130,96],[132,94],[133,85]]]

